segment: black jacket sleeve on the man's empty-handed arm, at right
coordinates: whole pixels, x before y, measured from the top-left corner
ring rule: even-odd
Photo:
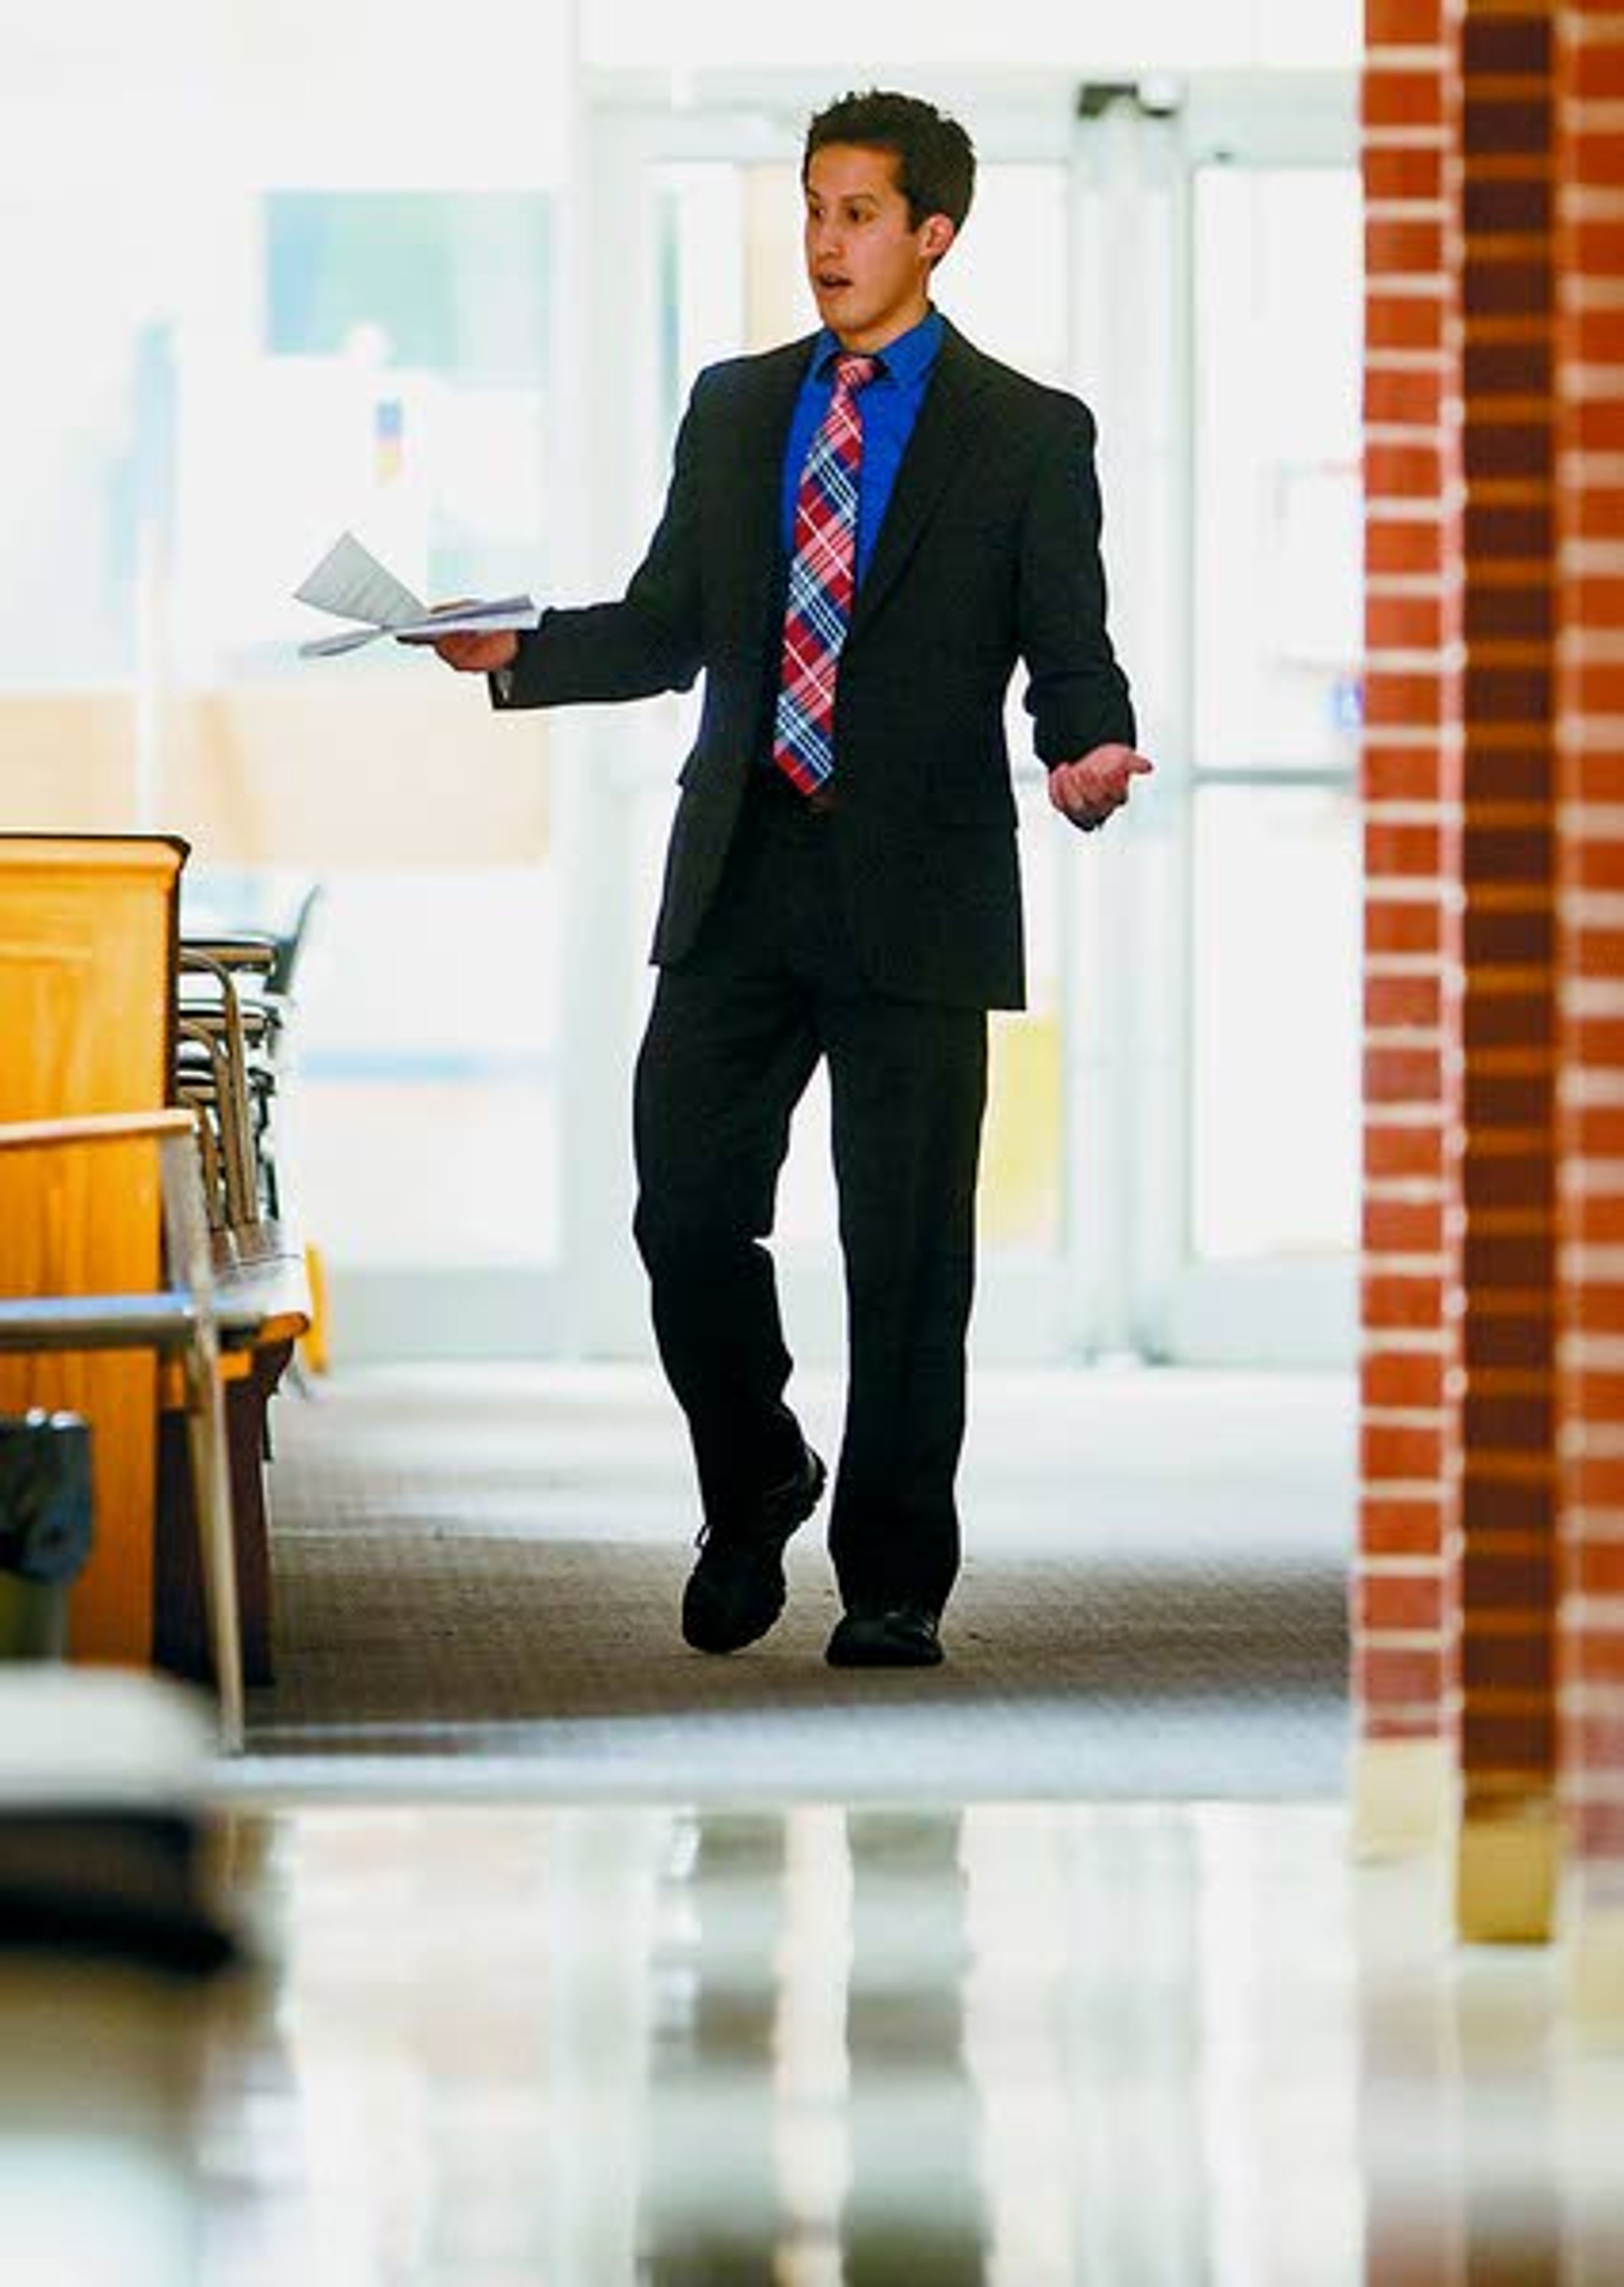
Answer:
[[[1032,677],[1025,707],[1045,764],[1137,741],[1128,677],[1105,629],[1093,416],[1077,398],[1054,403],[1054,437],[1027,494],[1018,572],[1018,640]]]

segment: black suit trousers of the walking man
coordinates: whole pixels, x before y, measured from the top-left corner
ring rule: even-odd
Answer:
[[[947,1601],[965,1427],[986,1011],[865,988],[837,794],[762,771],[693,951],[659,972],[636,1070],[636,1240],[711,1530],[801,1466],[773,1230],[819,1059],[846,1272],[846,1423],[828,1546],[846,1605]]]

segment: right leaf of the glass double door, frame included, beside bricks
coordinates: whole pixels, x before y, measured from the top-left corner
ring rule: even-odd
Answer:
[[[1082,938],[1086,1347],[1352,1358],[1359,316],[1352,91],[1194,87],[1080,156],[1123,650],[1157,759]],[[1123,325],[1121,313],[1132,311]],[[1125,528],[1123,528],[1125,521]]]

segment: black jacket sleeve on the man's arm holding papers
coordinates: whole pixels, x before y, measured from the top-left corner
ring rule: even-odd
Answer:
[[[700,640],[700,375],[677,432],[670,487],[647,556],[613,604],[542,613],[519,638],[508,675],[492,677],[499,707],[570,707],[686,691],[702,666]]]

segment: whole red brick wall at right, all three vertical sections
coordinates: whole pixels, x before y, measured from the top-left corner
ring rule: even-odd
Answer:
[[[1359,1713],[1624,1903],[1624,0],[1366,14]]]

